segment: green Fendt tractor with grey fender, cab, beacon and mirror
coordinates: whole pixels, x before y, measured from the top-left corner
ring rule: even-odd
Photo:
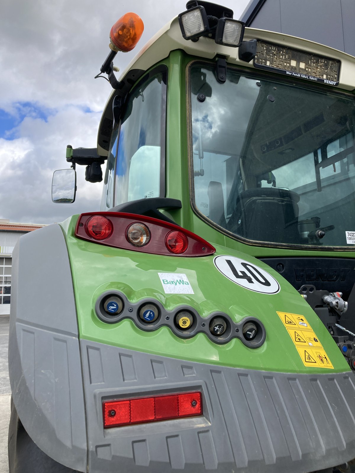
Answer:
[[[355,58],[190,0],[118,80],[142,28],[14,250],[10,473],[354,472]]]

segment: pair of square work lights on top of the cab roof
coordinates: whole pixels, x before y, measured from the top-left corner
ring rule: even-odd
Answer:
[[[231,47],[242,43],[245,23],[233,19],[233,10],[202,0],[189,0],[186,8],[177,17],[184,39],[195,42],[205,36]]]

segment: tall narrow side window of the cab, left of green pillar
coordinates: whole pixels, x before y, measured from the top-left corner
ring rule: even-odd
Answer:
[[[144,76],[131,92],[118,138],[115,205],[165,195],[167,71]]]

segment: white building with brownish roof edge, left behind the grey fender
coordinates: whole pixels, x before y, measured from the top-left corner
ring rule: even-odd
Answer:
[[[10,313],[12,251],[21,235],[44,225],[10,223],[0,219],[0,315]]]

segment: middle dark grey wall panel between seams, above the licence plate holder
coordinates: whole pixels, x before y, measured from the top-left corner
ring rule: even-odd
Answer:
[[[344,51],[340,0],[281,0],[280,6],[281,33]]]

